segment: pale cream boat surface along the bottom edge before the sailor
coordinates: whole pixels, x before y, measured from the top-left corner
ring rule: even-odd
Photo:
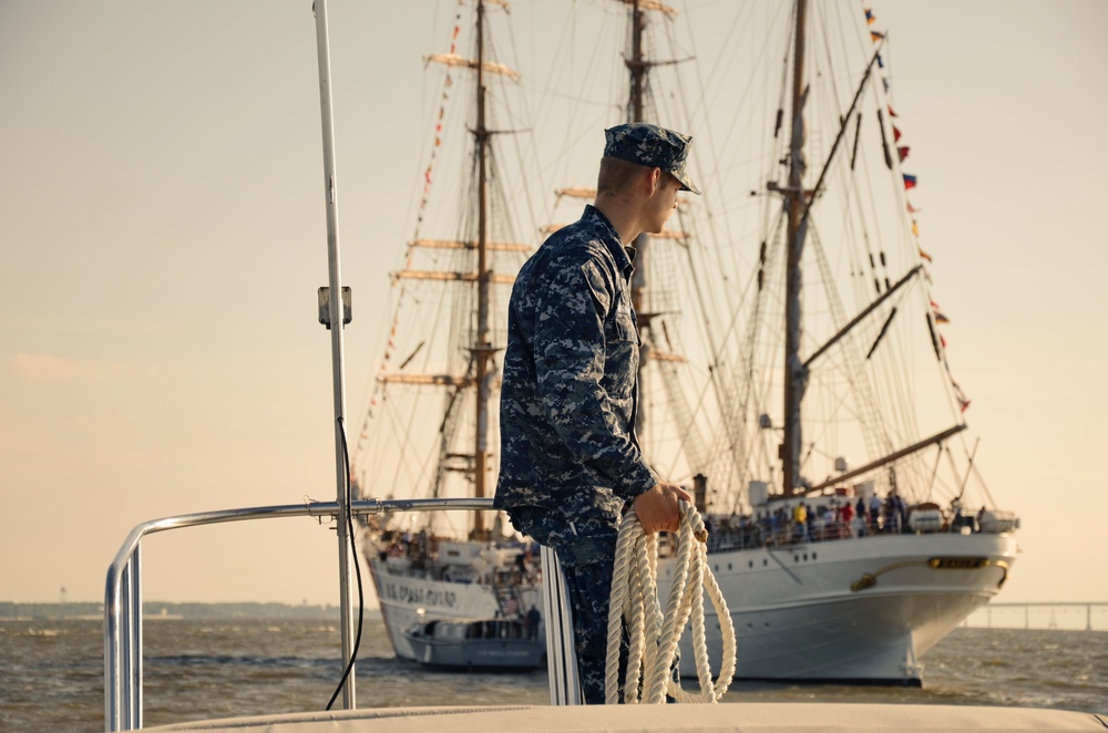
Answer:
[[[534,733],[546,731],[1108,731],[1108,715],[1033,708],[752,703],[576,708],[394,708],[181,723],[153,731]]]

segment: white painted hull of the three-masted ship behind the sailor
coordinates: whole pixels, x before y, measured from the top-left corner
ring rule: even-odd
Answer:
[[[711,554],[738,640],[736,678],[919,685],[920,658],[999,591],[1016,551],[1010,534],[974,533]],[[416,658],[402,631],[424,617],[492,617],[500,610],[489,585],[394,575],[379,560],[372,570],[401,658]],[[663,599],[670,575],[671,567],[659,562]],[[540,587],[517,592],[524,610],[531,603],[542,608]],[[711,667],[718,670],[722,640],[710,605],[705,626]],[[695,674],[688,632],[681,672]]]

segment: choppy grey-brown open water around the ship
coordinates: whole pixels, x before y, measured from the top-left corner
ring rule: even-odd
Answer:
[[[334,623],[155,619],[144,630],[144,725],[321,710],[341,673]],[[1108,713],[1108,631],[961,628],[923,661],[922,690],[739,682],[725,702],[1023,705]],[[0,621],[0,731],[103,731],[103,677],[100,621]],[[360,708],[550,702],[545,672],[427,672],[397,660],[384,627],[370,619],[357,683]]]

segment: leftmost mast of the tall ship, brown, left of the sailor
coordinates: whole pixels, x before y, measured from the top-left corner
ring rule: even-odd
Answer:
[[[489,328],[489,282],[492,271],[489,268],[489,178],[488,157],[489,137],[491,133],[485,127],[485,82],[484,82],[484,2],[478,1],[478,120],[473,130],[473,140],[478,156],[478,332],[471,350],[475,365],[476,386],[476,427],[473,438],[473,495],[483,498],[488,493],[489,460],[489,396],[490,370],[489,360],[494,351],[490,340]],[[484,515],[473,513],[473,537],[485,534]]]

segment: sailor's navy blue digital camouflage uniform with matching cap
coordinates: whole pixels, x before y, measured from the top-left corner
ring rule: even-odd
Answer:
[[[659,167],[699,193],[685,172],[689,141],[655,125],[619,125],[606,131],[604,154]],[[520,270],[507,320],[495,506],[562,560],[589,704],[604,702],[619,514],[659,481],[634,429],[640,345],[634,255],[608,219],[586,206]]]

